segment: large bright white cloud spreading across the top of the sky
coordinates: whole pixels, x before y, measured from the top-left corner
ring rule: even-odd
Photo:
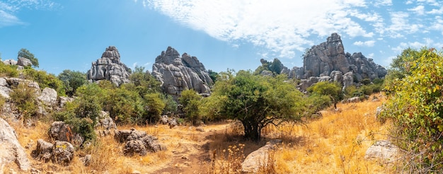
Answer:
[[[233,44],[251,42],[280,57],[295,57],[297,50],[313,45],[309,40],[312,36],[326,37],[335,32],[349,37],[374,36],[370,28],[350,18],[350,9],[367,7],[364,0],[147,0],[146,3],[182,25],[214,38]],[[364,21],[379,21],[376,13],[365,15],[355,13]]]

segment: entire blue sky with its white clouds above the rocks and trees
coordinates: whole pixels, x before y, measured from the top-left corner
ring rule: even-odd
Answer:
[[[0,0],[0,53],[26,48],[40,69],[86,72],[114,45],[127,66],[146,66],[168,46],[206,69],[252,69],[260,59],[302,66],[306,48],[342,36],[345,52],[389,66],[407,47],[443,47],[439,0]]]

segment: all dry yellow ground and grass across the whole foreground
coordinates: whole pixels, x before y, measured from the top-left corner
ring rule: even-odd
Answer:
[[[306,124],[285,124],[266,127],[263,141],[245,141],[236,134],[242,132],[234,122],[222,122],[203,127],[124,126],[118,129],[135,128],[159,138],[167,146],[166,151],[148,153],[146,156],[124,156],[122,146],[113,137],[99,137],[97,144],[76,151],[70,166],[35,161],[29,155],[33,168],[55,173],[227,173],[229,168],[238,168],[252,151],[270,139],[282,139],[280,149],[273,153],[271,166],[275,173],[393,173],[393,166],[379,161],[364,159],[364,153],[374,139],[387,139],[389,122],[381,124],[375,119],[375,110],[384,101],[338,104],[340,111],[322,111],[323,117],[309,120]],[[372,97],[371,97],[372,98]],[[21,124],[15,127],[19,141],[30,154],[37,139],[47,139],[49,123],[36,122],[32,129]],[[240,145],[239,145],[240,144]],[[234,153],[229,153],[229,151]],[[238,149],[238,150],[236,150]],[[80,158],[92,155],[90,166],[84,166]],[[215,157],[215,158],[214,158]],[[6,168],[15,168],[8,165]],[[15,168],[16,171],[18,170]],[[8,171],[8,170],[6,170]],[[232,170],[231,170],[232,171]],[[266,173],[266,172],[263,172]]]

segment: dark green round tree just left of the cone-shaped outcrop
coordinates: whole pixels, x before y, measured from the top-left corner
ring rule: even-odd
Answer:
[[[69,69],[63,70],[58,78],[64,83],[64,91],[69,96],[74,95],[77,88],[88,82],[86,80],[86,74],[80,71],[71,71]]]

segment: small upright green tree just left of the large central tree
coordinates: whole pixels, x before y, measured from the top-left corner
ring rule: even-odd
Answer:
[[[192,89],[182,91],[180,98],[178,98],[186,112],[186,117],[192,124],[197,124],[201,120],[199,111],[200,100],[202,100],[202,97]]]

